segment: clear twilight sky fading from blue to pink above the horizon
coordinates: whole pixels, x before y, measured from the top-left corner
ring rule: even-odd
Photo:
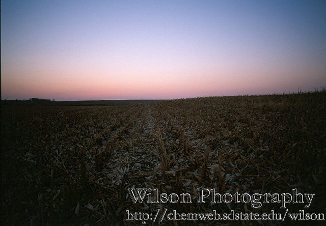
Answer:
[[[326,1],[1,1],[2,99],[326,87]]]

